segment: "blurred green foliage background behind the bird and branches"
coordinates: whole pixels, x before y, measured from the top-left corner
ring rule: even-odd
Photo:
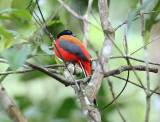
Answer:
[[[152,1],[152,0],[151,0]],[[92,58],[97,57],[97,51],[100,53],[103,44],[103,32],[101,30],[98,1],[94,0],[92,6],[92,14],[89,15],[90,30],[88,51]],[[36,34],[39,31],[39,26],[36,24],[29,11],[26,9],[30,0],[0,0],[0,56],[9,61],[10,70],[23,70],[20,67],[26,59],[36,65],[55,64],[55,57],[52,48],[52,43],[49,37],[41,32],[41,36]],[[145,6],[145,11],[149,12],[159,4],[158,0],[148,3]],[[83,15],[87,8],[87,0],[68,0],[67,4],[77,13]],[[56,0],[39,0],[44,18],[47,20],[60,6]],[[125,21],[128,10],[131,11],[139,7],[139,0],[110,0],[109,12],[110,21],[113,27],[117,27]],[[37,10],[37,6],[33,6]],[[155,10],[158,11],[158,6]],[[39,15],[39,14],[38,14]],[[95,19],[96,18],[96,19]],[[154,14],[145,15],[148,19],[147,30],[150,34],[152,26],[159,22],[159,16]],[[57,23],[55,24],[55,20]],[[131,19],[131,18],[130,18]],[[98,21],[98,22],[97,22]],[[93,26],[94,25],[94,26]],[[159,24],[158,24],[159,25]],[[157,25],[157,26],[158,26]],[[57,17],[54,17],[48,24],[50,32],[56,38],[56,35],[64,29],[71,30],[77,35],[77,38],[83,39],[82,21],[76,19],[64,8],[61,8]],[[98,27],[98,28],[95,28]],[[141,21],[140,19],[132,22],[127,29],[127,39],[129,53],[132,53],[137,48],[143,45],[141,37]],[[154,34],[158,31],[154,31]],[[42,37],[42,39],[40,38]],[[115,44],[122,50],[124,39],[124,26],[116,31]],[[152,61],[152,46],[148,46],[149,60]],[[34,55],[36,54],[38,55]],[[113,47],[111,56],[121,55],[120,52]],[[28,57],[27,57],[28,56]],[[143,50],[133,55],[136,58],[144,59]],[[17,59],[17,60],[15,60]],[[157,60],[156,60],[157,61]],[[132,65],[141,65],[136,61],[131,61]],[[108,69],[112,70],[122,65],[127,65],[124,59],[111,59]],[[20,67],[20,68],[19,68]],[[94,70],[95,63],[92,63]],[[0,72],[5,72],[8,65],[0,63]],[[142,82],[146,86],[146,73],[137,72]],[[127,72],[120,76],[126,78]],[[1,76],[2,77],[2,76]],[[158,75],[150,73],[151,89],[154,89],[158,84]],[[113,77],[110,77],[113,83],[114,93],[117,95],[123,88],[125,82]],[[133,73],[130,73],[130,80],[138,83]],[[12,74],[8,75],[2,82],[2,85],[23,112],[29,122],[85,122],[81,109],[77,104],[77,98],[74,90],[71,87],[65,87],[61,83],[51,77],[40,73],[39,71]],[[142,122],[145,118],[146,98],[143,89],[140,89],[132,84],[128,84],[122,95],[118,98],[120,110],[124,118],[128,122]],[[112,100],[110,88],[107,79],[104,79],[101,89],[97,95],[98,108],[107,105]],[[160,119],[158,111],[160,108],[159,99],[156,95],[152,96],[150,121],[155,122]],[[107,109],[100,111],[102,122],[121,122],[115,104],[112,104]],[[9,118],[0,106],[0,122],[9,122]]]

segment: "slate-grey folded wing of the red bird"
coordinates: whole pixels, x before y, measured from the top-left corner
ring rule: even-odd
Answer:
[[[74,43],[65,41],[63,39],[59,40],[59,46],[65,50],[68,53],[75,54],[80,59],[89,62],[89,59],[86,57],[86,55],[83,53],[81,47],[79,45],[76,45]]]

